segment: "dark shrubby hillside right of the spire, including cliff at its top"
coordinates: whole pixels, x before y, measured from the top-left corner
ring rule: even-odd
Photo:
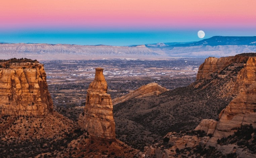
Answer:
[[[240,55],[209,57],[193,84],[115,105],[117,138],[142,150],[145,143],[168,132],[192,130],[202,119],[218,119],[221,110],[247,87],[241,84],[240,74],[247,60],[248,56]]]

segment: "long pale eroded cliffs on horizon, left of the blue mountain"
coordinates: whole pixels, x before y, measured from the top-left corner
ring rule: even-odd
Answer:
[[[161,56],[164,52],[153,51],[145,45],[139,46],[109,46],[109,45],[71,45],[71,44],[0,44],[2,58],[33,57],[38,60],[50,59],[88,59]]]

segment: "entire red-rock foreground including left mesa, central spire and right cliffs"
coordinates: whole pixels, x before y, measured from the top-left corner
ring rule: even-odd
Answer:
[[[255,53],[209,57],[189,86],[152,83],[113,102],[98,67],[78,122],[54,111],[43,65],[21,61],[1,62],[4,157],[255,157]]]

